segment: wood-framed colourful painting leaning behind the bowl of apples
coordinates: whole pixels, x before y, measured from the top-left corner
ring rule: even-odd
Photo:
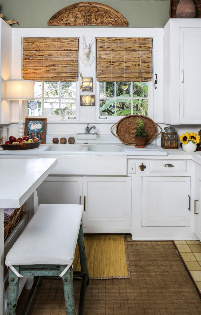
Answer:
[[[38,138],[41,144],[45,143],[47,118],[25,118],[25,136],[30,139]]]

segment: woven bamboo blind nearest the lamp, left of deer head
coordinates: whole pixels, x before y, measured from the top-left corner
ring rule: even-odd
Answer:
[[[78,81],[78,38],[23,38],[23,78]]]

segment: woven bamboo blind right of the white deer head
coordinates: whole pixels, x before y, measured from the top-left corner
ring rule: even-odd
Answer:
[[[152,38],[97,38],[98,81],[151,81]]]

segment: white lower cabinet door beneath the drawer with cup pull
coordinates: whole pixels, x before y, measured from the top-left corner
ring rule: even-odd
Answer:
[[[142,178],[142,226],[190,226],[190,177]]]

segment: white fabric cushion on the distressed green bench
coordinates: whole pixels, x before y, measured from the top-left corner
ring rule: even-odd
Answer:
[[[72,265],[83,206],[40,204],[6,256],[5,264],[20,277],[14,265]],[[66,269],[67,271],[67,269]]]

